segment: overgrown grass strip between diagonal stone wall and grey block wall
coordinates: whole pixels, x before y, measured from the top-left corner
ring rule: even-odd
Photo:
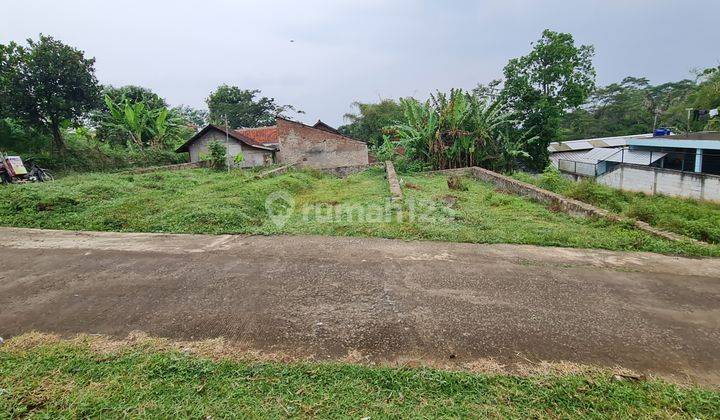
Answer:
[[[716,203],[621,191],[592,180],[574,182],[556,172],[546,172],[537,177],[525,173],[513,176],[664,230],[720,244],[720,205]]]

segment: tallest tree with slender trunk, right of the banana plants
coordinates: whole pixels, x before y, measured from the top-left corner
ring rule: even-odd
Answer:
[[[522,128],[535,135],[526,145],[531,169],[547,165],[547,146],[557,139],[562,116],[595,87],[593,55],[592,46],[575,46],[571,34],[546,29],[528,55],[505,66],[501,97],[519,113]]]

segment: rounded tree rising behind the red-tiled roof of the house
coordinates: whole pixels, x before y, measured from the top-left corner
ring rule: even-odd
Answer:
[[[276,116],[287,117],[289,111],[303,113],[292,105],[278,105],[275,98],[258,98],[260,93],[257,89],[219,86],[206,100],[210,122],[224,125],[227,117],[231,127],[261,127],[274,124]]]

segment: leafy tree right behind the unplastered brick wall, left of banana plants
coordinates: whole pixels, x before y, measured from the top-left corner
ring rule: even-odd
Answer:
[[[357,112],[345,114],[350,124],[338,127],[338,130],[371,146],[382,145],[383,127],[403,119],[402,106],[392,99],[383,99],[376,104],[355,102],[353,106]]]

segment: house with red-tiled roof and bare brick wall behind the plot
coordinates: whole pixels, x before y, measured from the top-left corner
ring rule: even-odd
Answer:
[[[337,168],[366,165],[367,145],[342,135],[319,121],[313,126],[277,118],[269,127],[225,130],[208,125],[176,151],[188,152],[191,162],[200,161],[208,154],[208,144],[219,141],[226,144],[228,163],[233,166],[235,156],[243,154],[240,167],[297,162],[313,168]]]

